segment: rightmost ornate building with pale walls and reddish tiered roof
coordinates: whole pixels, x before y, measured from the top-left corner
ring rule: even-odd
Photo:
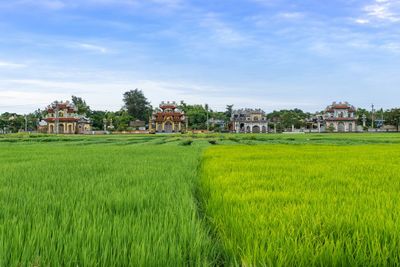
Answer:
[[[333,102],[325,109],[323,119],[326,131],[357,131],[356,108],[348,102]]]

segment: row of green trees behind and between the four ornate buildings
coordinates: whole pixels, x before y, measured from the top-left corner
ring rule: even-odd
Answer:
[[[134,120],[149,122],[154,110],[145,97],[142,90],[135,89],[123,94],[123,106],[118,111],[93,110],[84,99],[72,96],[71,102],[77,107],[78,114],[84,115],[92,121],[93,130],[103,130],[106,125],[110,131],[132,130],[130,122]],[[233,112],[233,105],[227,105],[225,111],[214,111],[208,105],[187,104],[181,101],[178,108],[185,112],[188,117],[188,127],[193,130],[209,129],[217,132],[228,130],[228,125]],[[322,114],[319,112],[317,114]],[[5,112],[0,115],[0,132],[36,131],[39,122],[46,116],[46,110],[35,110],[26,115]],[[386,125],[400,127],[400,108],[378,110],[374,113],[366,109],[358,109],[358,124],[363,125],[363,117],[366,120],[366,127],[379,127],[379,122]],[[310,118],[313,114],[304,112],[301,109],[276,110],[267,114],[271,126],[282,132],[292,127],[296,129],[310,127]],[[374,118],[374,123],[373,123]],[[211,120],[210,120],[211,119]]]

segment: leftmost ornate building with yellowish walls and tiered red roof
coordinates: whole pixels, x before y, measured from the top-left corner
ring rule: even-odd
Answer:
[[[78,109],[68,101],[55,101],[46,108],[46,111],[45,129],[49,134],[85,134],[92,129],[90,120],[78,115]]]

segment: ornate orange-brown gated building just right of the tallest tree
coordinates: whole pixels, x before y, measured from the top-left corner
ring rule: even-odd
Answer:
[[[185,113],[178,109],[176,102],[163,101],[159,108],[150,117],[150,133],[179,133],[185,131]]]

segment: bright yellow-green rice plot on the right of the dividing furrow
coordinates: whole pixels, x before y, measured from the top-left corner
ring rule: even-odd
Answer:
[[[205,211],[227,265],[398,266],[400,145],[209,148]]]

